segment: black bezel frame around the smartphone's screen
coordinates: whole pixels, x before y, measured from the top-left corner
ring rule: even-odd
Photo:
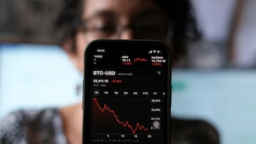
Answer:
[[[157,48],[164,48],[167,52],[167,97],[166,97],[166,110],[165,110],[165,121],[166,121],[166,144],[171,143],[171,50],[168,45],[159,41],[159,40],[92,40],[87,44],[84,52],[84,72],[82,80],[82,143],[90,144],[90,111],[92,109],[92,103],[90,103],[89,98],[90,90],[87,90],[89,87],[90,77],[90,59],[88,55],[92,55],[94,48],[99,48],[104,45],[134,45],[134,46],[147,46],[152,45]]]

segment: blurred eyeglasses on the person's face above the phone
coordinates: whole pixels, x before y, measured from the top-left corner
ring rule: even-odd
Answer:
[[[166,18],[161,16],[144,16],[127,25],[119,23],[113,16],[98,16],[82,21],[80,30],[93,38],[120,38],[122,32],[129,28],[134,38],[165,40],[168,32]]]

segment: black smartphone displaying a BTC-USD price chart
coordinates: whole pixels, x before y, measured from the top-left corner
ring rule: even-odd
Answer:
[[[171,50],[156,40],[94,40],[85,50],[86,144],[169,144]]]

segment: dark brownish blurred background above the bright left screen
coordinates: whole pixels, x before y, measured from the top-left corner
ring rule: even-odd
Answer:
[[[53,23],[61,0],[1,0],[0,42],[56,43]]]

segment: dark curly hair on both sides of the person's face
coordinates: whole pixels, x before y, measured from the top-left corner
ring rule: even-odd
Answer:
[[[83,2],[86,0],[64,0],[62,10],[55,23],[58,31],[59,43],[63,43],[67,38],[75,38],[76,28],[80,23]],[[152,0],[164,11],[171,22],[172,36],[168,40],[173,48],[174,62],[186,55],[187,41],[191,38],[200,38],[200,33],[196,26],[191,2],[189,0],[161,1]],[[75,48],[73,49],[75,52]]]

